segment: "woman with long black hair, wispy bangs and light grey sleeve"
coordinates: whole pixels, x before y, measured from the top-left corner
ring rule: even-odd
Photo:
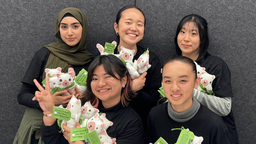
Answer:
[[[187,56],[196,61],[205,71],[215,75],[212,91],[215,96],[194,90],[193,96],[205,107],[222,116],[227,125],[232,143],[239,143],[236,124],[231,109],[233,97],[230,71],[227,64],[219,57],[207,52],[209,46],[206,20],[196,14],[185,16],[179,23],[174,39],[176,55]]]

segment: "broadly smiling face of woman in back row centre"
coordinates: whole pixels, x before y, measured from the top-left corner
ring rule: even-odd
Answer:
[[[145,18],[138,9],[124,10],[118,24],[114,24],[120,36],[120,45],[125,48],[136,45],[143,38],[144,22]]]

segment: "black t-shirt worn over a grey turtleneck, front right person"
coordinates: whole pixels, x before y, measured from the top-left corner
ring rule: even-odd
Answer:
[[[196,115],[186,122],[176,122],[168,114],[168,103],[160,104],[152,108],[148,116],[148,124],[145,134],[145,144],[155,143],[162,137],[167,143],[177,142],[181,128],[193,132],[198,137],[203,137],[202,144],[229,144],[227,126],[219,115],[200,104]]]

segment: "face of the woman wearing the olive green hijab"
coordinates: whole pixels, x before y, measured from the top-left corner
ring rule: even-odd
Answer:
[[[82,25],[73,17],[65,17],[60,21],[61,39],[69,46],[78,44],[82,37]]]

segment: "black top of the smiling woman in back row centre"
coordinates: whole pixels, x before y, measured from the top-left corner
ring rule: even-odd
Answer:
[[[114,54],[118,54],[118,45],[114,50]],[[133,57],[134,60],[138,60],[141,54],[146,51],[145,48],[137,45],[136,55]],[[161,87],[161,63],[159,57],[149,51],[149,64],[151,67],[147,70],[147,75],[144,87],[138,91],[137,97],[135,97],[130,106],[135,110],[135,112],[140,116],[143,129],[146,129],[148,114],[151,108],[157,106],[157,101],[160,99],[160,94],[157,90]]]

